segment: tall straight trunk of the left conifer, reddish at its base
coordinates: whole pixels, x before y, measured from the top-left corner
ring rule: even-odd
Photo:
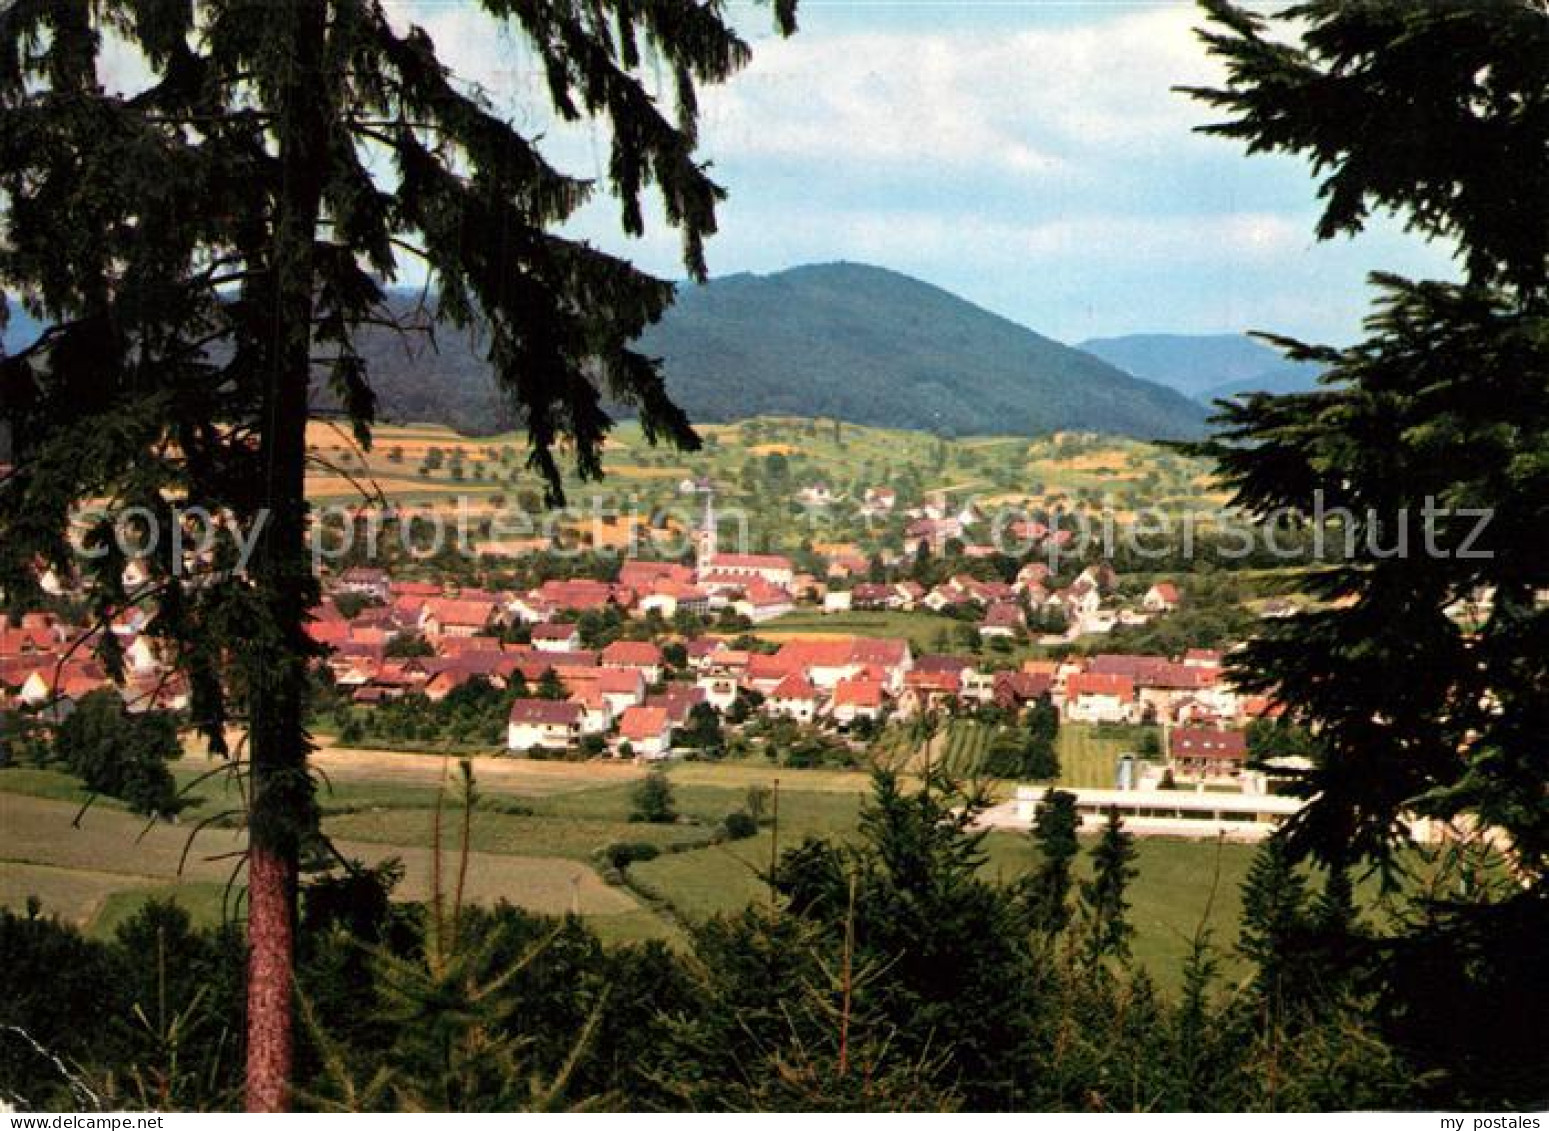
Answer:
[[[248,1111],[283,1111],[294,1052],[296,889],[302,838],[314,827],[307,772],[305,634],[313,578],[307,559],[307,401],[311,375],[313,240],[327,170],[325,0],[290,0],[266,15],[279,90],[270,262],[271,378],[260,421],[268,514],[254,555],[265,624],[251,641],[252,793],[248,854]]]

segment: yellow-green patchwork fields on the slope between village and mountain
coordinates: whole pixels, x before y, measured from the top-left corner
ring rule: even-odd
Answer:
[[[925,432],[836,426],[829,420],[767,417],[702,425],[702,451],[652,448],[640,428],[623,423],[604,451],[601,483],[567,482],[572,500],[668,516],[668,533],[691,522],[702,500],[680,493],[686,479],[708,477],[723,511],[748,517],[762,548],[793,550],[802,539],[846,541],[875,548],[878,530],[853,516],[867,486],[908,482],[984,505],[1111,507],[1117,514],[1162,504],[1204,508],[1216,502],[1205,466],[1154,445],[1118,437],[1056,434],[1044,438],[973,437],[942,440]],[[431,425],[383,426],[369,452],[347,429],[314,423],[308,431],[310,493],[318,504],[355,505],[386,499],[406,514],[452,517],[459,502],[474,519],[520,505],[536,513],[541,483],[525,469],[527,443],[516,434],[465,437]],[[779,468],[771,465],[779,462]],[[802,486],[826,483],[840,499],[829,510],[793,517]],[[590,521],[561,524],[582,539]],[[623,541],[627,525],[601,541]],[[641,539],[649,535],[640,535]]]

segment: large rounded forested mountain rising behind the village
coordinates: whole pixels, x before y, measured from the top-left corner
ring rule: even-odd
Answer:
[[[389,333],[359,342],[384,415],[463,431],[514,421],[466,335],[438,332],[426,381]],[[886,268],[815,263],[739,273],[678,301],[638,347],[663,359],[692,420],[836,417],[939,435],[1092,431],[1182,438],[1205,411],[1173,389]]]

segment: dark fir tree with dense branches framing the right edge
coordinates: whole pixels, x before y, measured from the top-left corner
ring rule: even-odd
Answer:
[[[1456,248],[1458,280],[1372,276],[1354,345],[1270,338],[1321,386],[1224,404],[1196,451],[1245,513],[1345,511],[1309,576],[1323,607],[1266,624],[1233,680],[1317,737],[1293,857],[1391,880],[1416,816],[1504,846],[1515,882],[1406,916],[1374,984],[1422,1067],[1521,1098],[1549,1072],[1549,1052],[1523,1052],[1544,1049],[1549,1013],[1523,951],[1549,931],[1549,9],[1204,8],[1227,74],[1191,91],[1225,115],[1207,132],[1306,156],[1320,239],[1389,211]],[[1465,973],[1437,978],[1448,964]]]

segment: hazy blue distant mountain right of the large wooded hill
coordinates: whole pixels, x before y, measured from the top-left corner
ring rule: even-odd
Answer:
[[[1318,367],[1286,361],[1255,338],[1230,335],[1137,333],[1094,338],[1077,349],[1126,373],[1210,403],[1245,392],[1306,392]]]

